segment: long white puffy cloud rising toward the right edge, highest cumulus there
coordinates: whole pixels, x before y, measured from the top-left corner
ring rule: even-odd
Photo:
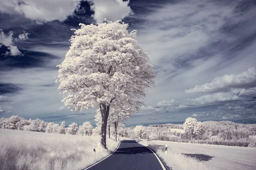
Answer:
[[[249,68],[240,74],[226,74],[223,77],[215,77],[212,82],[204,85],[196,85],[185,90],[186,93],[217,92],[227,88],[251,88],[256,86],[256,69]]]

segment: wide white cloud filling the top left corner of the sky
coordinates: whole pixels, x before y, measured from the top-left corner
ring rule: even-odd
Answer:
[[[26,18],[45,22],[63,21],[72,15],[81,0],[1,0],[0,12],[20,14]]]

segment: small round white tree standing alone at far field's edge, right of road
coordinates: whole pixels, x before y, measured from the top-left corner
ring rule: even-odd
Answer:
[[[193,136],[194,142],[195,142],[195,137],[204,131],[204,127],[202,123],[198,122],[197,119],[192,117],[188,117],[183,125],[184,125],[183,128],[185,132]]]

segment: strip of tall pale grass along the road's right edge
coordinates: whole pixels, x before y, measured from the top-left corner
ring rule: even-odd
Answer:
[[[154,150],[170,170],[218,170],[214,167],[204,166],[204,164],[195,157],[175,153],[173,150],[167,150],[167,154],[165,154],[165,147],[163,145],[142,139],[139,139],[138,142]]]

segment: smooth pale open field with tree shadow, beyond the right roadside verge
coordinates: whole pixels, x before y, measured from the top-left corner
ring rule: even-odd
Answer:
[[[167,144],[168,150],[197,157],[206,167],[215,167],[218,170],[256,170],[255,147],[232,147],[165,141],[151,142],[163,147]]]

